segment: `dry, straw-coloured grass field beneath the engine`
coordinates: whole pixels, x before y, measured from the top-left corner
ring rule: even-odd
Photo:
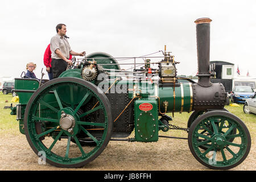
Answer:
[[[31,150],[26,137],[19,133],[16,115],[10,115],[11,94],[0,93],[0,170],[66,170],[49,164],[39,165],[38,157]],[[18,104],[18,102],[13,102]],[[246,160],[234,170],[255,170],[256,167],[256,114],[245,114],[239,107],[225,106],[246,123],[251,135],[251,150]],[[187,127],[191,113],[175,113],[172,124]],[[169,113],[171,115],[171,113]],[[159,135],[187,138],[187,132],[160,131]],[[134,137],[134,132],[130,136]],[[209,170],[193,158],[187,140],[159,138],[158,142],[110,141],[104,152],[84,168],[71,170]]]

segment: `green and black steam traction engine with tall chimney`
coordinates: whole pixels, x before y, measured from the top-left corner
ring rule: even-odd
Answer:
[[[166,113],[193,111],[183,129],[193,156],[212,169],[236,167],[249,154],[251,139],[241,119],[224,109],[224,86],[210,82],[210,22],[195,21],[197,83],[176,76],[178,62],[166,48],[162,60],[152,63],[147,57],[140,69],[134,57],[133,71],[121,70],[117,58],[97,52],[43,85],[16,78],[19,104],[11,114],[16,114],[20,132],[47,163],[82,167],[109,140],[156,142],[160,130],[175,127]],[[127,139],[133,130],[135,137]]]

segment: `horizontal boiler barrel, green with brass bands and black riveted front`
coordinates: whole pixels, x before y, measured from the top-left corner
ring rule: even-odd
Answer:
[[[185,83],[175,86],[159,87],[160,111],[164,113],[164,102],[168,102],[167,112],[191,112],[192,110],[223,109],[226,100],[224,86],[220,83],[203,87]]]

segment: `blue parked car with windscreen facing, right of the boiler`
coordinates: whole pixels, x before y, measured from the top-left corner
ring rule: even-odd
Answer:
[[[230,100],[234,103],[244,104],[250,96],[254,96],[254,90],[251,86],[235,86],[230,94]]]

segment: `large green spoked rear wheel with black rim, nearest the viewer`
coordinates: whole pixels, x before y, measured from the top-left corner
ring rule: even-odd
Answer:
[[[88,106],[92,101],[98,104]],[[101,119],[91,119],[91,115]],[[96,159],[109,143],[113,130],[110,104],[105,94],[88,81],[56,78],[31,96],[24,128],[32,150],[39,156],[44,154],[47,163],[82,167]],[[84,146],[81,139],[95,144]]]

